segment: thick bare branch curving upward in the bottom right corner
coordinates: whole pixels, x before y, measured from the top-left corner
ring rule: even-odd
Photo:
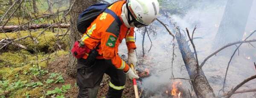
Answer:
[[[245,79],[243,82],[238,84],[234,89],[232,89],[230,92],[228,92],[228,94],[227,94],[227,96],[225,98],[230,98],[236,92],[237,89],[239,89],[242,85],[244,85],[248,81],[251,81],[251,80],[253,80],[255,78],[256,78],[256,75],[253,75],[250,78]]]

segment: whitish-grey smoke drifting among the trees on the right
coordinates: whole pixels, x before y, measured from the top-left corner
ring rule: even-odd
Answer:
[[[212,49],[212,44],[214,42],[214,38],[216,33],[218,32],[218,27],[221,23],[224,9],[226,6],[227,0],[201,0],[198,3],[195,3],[195,7],[192,7],[187,11],[187,13],[180,17],[179,15],[172,15],[172,22],[177,22],[177,25],[180,26],[181,29],[188,28],[190,31],[197,25],[197,30],[195,31],[195,37],[203,37],[203,39],[194,40],[196,49],[198,51],[198,59],[199,64],[212,52],[216,49]],[[247,26],[246,26],[246,35],[248,36],[253,30],[256,30],[256,1],[253,2],[253,7],[250,11]],[[159,16],[160,20],[165,22],[169,29],[172,29],[172,25],[169,23],[170,20],[166,19],[166,17]],[[151,36],[153,41],[153,46],[150,52],[146,52],[146,59],[144,66],[151,66],[151,76],[148,78],[144,78],[142,85],[144,89],[147,89],[150,92],[161,93],[159,87],[165,84],[172,83],[169,78],[172,77],[172,37],[168,32],[161,26],[157,21],[154,22],[155,26],[159,29],[157,31],[157,36]],[[247,37],[246,36],[246,37]],[[142,36],[137,33],[137,55],[141,57],[142,55]],[[232,35],[230,35],[232,37]],[[256,38],[254,35],[252,38]],[[187,38],[188,40],[188,38]],[[150,41],[148,37],[145,38],[145,49],[149,49]],[[256,46],[255,43],[252,43]],[[190,45],[192,49],[192,45]],[[256,70],[253,66],[253,61],[256,61],[255,49],[254,52],[245,51],[248,49],[252,49],[253,47],[248,47],[248,44],[244,44],[240,48],[240,55],[235,56],[233,61],[230,64],[230,69],[227,74],[227,82],[225,91],[229,91],[233,86],[236,86],[241,81],[246,78],[249,78],[252,75],[255,75]],[[119,47],[119,54],[127,54],[127,48],[125,46],[125,42],[121,44]],[[192,49],[193,50],[193,49]],[[241,51],[244,50],[244,51]],[[254,53],[254,54],[252,54]],[[251,59],[245,58],[244,54],[252,54],[249,55]],[[175,78],[188,78],[189,75],[186,71],[186,68],[183,63],[183,59],[180,54],[180,50],[178,49],[177,42],[175,41],[175,57],[173,64],[173,73]],[[247,55],[248,56],[248,55]],[[218,95],[219,90],[222,88],[225,71],[227,68],[227,63],[230,60],[231,55],[217,55],[210,58],[207,63],[203,67],[203,71],[207,76],[207,79],[215,91],[215,95]],[[151,62],[150,65],[147,65]],[[166,71],[160,71],[163,69],[167,69]],[[189,81],[180,80],[183,82],[183,86],[185,89],[191,89]],[[256,84],[254,81],[250,81],[245,84],[247,86],[241,87],[241,89],[248,88],[256,88]],[[244,93],[237,94],[233,96],[235,98],[249,98],[253,97],[254,93]],[[255,96],[254,96],[255,97]]]

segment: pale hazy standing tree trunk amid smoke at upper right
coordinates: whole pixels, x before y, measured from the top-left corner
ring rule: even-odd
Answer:
[[[241,41],[253,0],[228,0],[218,33],[215,48]]]

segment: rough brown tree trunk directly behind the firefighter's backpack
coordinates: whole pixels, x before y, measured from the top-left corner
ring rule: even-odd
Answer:
[[[70,5],[73,4],[73,2],[76,1],[73,5],[73,8],[70,11],[71,17],[70,18],[70,26],[71,26],[71,32],[70,32],[70,50],[73,47],[73,44],[76,40],[79,40],[81,36],[79,35],[79,32],[76,28],[76,21],[79,16],[79,13],[84,11],[87,7],[89,7],[92,4],[95,4],[97,0],[70,0]],[[76,76],[76,58],[73,57],[73,55],[69,54],[69,61],[67,65],[67,74],[71,76]]]

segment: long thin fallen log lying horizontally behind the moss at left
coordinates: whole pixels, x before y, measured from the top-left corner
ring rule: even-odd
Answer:
[[[3,32],[13,32],[16,30],[27,30],[27,29],[43,29],[51,26],[52,24],[33,24],[29,26],[23,26],[20,28],[20,26],[0,26],[0,33]],[[51,28],[69,28],[70,23],[61,23],[61,24],[55,24]]]

